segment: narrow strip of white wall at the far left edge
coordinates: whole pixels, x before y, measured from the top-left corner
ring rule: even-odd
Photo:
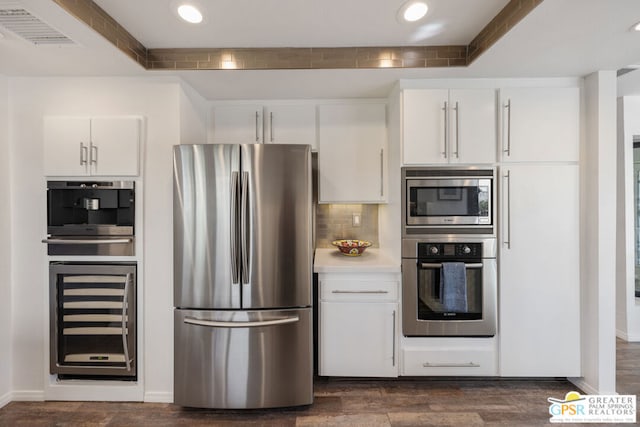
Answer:
[[[11,400],[11,242],[8,79],[0,76],[0,407]]]

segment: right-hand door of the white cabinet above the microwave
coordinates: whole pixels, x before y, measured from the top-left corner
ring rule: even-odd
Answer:
[[[496,161],[496,91],[451,90],[449,93],[451,163]]]

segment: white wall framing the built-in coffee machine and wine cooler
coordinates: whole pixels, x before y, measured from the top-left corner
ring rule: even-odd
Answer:
[[[143,180],[142,264],[138,274],[139,364],[145,399],[170,401],[173,389],[172,153],[180,142],[180,86],[164,78],[15,78],[10,81],[13,286],[13,390],[16,399],[43,397],[47,366],[46,193],[42,117],[141,115],[146,119]],[[0,180],[1,181],[1,180]],[[140,231],[140,230],[139,230]],[[139,232],[138,231],[138,232]],[[4,346],[2,346],[5,348]],[[48,396],[50,397],[50,396]],[[113,398],[117,399],[115,395]]]

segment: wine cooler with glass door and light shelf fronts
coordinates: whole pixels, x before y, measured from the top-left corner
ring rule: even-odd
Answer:
[[[136,265],[52,262],[50,371],[136,379]]]

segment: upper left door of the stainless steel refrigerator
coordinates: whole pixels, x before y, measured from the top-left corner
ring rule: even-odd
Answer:
[[[240,308],[239,168],[238,145],[174,147],[175,307]]]

